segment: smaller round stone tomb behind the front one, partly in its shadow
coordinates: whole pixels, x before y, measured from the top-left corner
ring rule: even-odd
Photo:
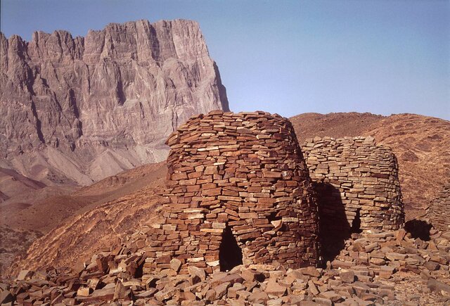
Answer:
[[[307,139],[302,146],[316,182],[323,229],[397,230],[404,223],[397,159],[373,137]],[[343,221],[343,222],[342,222]]]

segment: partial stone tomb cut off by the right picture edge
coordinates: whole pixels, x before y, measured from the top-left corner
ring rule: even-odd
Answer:
[[[428,209],[428,219],[435,229],[448,231],[450,229],[450,183],[444,186],[432,201]]]

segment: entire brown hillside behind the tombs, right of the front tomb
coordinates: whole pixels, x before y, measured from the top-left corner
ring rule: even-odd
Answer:
[[[450,122],[413,114],[305,113],[290,118],[300,144],[314,136],[373,136],[399,162],[406,219],[423,215],[450,177]]]

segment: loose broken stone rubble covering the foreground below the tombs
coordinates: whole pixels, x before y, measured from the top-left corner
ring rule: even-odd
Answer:
[[[145,229],[148,230],[148,229]],[[142,234],[142,231],[140,232]],[[326,268],[238,265],[208,273],[172,259],[143,279],[143,250],[129,247],[94,255],[81,271],[24,270],[0,283],[2,305],[449,305],[450,231],[430,241],[399,231],[353,234]],[[113,304],[109,304],[114,302]]]

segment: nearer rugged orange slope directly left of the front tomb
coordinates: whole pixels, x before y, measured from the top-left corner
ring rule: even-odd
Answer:
[[[160,184],[162,180],[156,183]],[[160,200],[157,191],[155,186],[146,187],[68,218],[61,227],[35,241],[23,260],[13,262],[11,270],[22,264],[38,269],[43,262],[76,267],[105,246],[120,245],[126,234],[153,222],[153,210]]]

